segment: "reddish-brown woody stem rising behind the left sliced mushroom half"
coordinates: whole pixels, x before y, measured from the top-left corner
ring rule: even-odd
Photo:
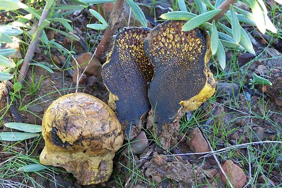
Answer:
[[[111,44],[112,36],[118,29],[120,21],[123,19],[123,4],[124,0],[116,0],[113,10],[110,14],[110,19],[108,27],[103,35],[102,40],[97,46],[97,51],[95,57],[101,62],[104,56],[105,51],[108,49]]]

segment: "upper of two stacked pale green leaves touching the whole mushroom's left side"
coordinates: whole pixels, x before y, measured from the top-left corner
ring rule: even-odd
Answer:
[[[5,123],[5,127],[16,129],[19,131],[24,131],[27,133],[41,133],[42,132],[42,126],[40,125],[33,125],[33,124],[27,124],[27,123]]]

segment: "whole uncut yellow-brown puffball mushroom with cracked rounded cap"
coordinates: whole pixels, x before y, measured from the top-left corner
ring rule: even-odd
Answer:
[[[107,104],[90,94],[61,96],[47,108],[42,126],[42,164],[65,168],[82,185],[110,178],[123,132]]]

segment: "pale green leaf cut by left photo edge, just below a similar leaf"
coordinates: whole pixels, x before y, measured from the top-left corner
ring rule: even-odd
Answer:
[[[18,133],[18,132],[2,132],[0,133],[0,141],[23,141],[38,137],[36,133]]]

